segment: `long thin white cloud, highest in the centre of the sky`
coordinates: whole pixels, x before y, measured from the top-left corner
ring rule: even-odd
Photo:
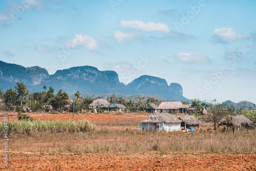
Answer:
[[[121,20],[122,27],[134,28],[143,31],[160,31],[164,33],[169,33],[170,29],[165,23],[154,23],[148,22],[144,23],[138,20]]]

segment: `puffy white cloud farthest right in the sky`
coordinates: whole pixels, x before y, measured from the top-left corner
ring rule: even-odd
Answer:
[[[248,38],[248,37],[250,37],[249,34],[239,34],[236,31],[234,31],[234,29],[232,28],[214,29],[214,38],[216,38],[216,41],[220,41],[220,42],[230,42],[236,39]]]

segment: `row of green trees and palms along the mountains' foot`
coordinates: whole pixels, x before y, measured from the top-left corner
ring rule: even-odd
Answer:
[[[81,97],[81,92],[77,91],[73,100],[69,100],[66,92],[59,90],[56,95],[52,87],[44,86],[42,91],[30,92],[23,82],[17,82],[15,89],[9,89],[3,92],[0,89],[0,111],[22,112],[24,106],[32,108],[33,112],[48,111],[49,105],[52,105],[56,111],[70,110],[82,112],[89,109],[89,104],[93,102],[93,98]],[[100,97],[98,97],[100,98]],[[117,98],[115,94],[107,99],[109,102],[118,101],[129,111],[143,111],[147,103],[160,104],[162,101],[153,97],[138,97],[133,100],[125,101],[123,98]]]

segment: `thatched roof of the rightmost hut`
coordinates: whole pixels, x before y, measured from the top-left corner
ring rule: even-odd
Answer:
[[[235,116],[229,115],[228,117],[223,118],[219,122],[219,124],[221,123],[232,123],[233,125],[239,126],[241,124],[252,123],[252,121],[246,118],[244,115],[235,115]]]

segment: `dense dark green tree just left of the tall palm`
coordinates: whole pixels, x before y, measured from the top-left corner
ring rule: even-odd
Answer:
[[[62,92],[60,89],[59,92],[55,95],[53,101],[52,101],[53,106],[57,110],[63,110],[67,104],[69,104],[69,96],[66,92]]]

